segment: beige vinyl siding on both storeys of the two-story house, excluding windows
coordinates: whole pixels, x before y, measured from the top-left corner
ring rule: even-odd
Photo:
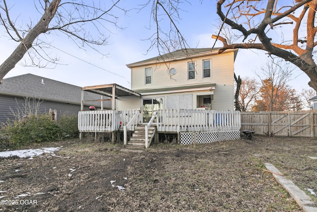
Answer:
[[[203,61],[211,61],[211,77],[203,78]],[[195,62],[196,74],[195,79],[188,79],[188,62]],[[175,68],[177,73],[170,77],[167,67]],[[152,68],[152,83],[145,84],[145,69]],[[175,61],[168,64],[158,64],[142,67],[134,67],[131,71],[132,84],[131,89],[138,91],[143,89],[155,89],[196,84],[215,83],[213,99],[211,100],[211,109],[213,110],[234,110],[234,52],[209,55],[204,57],[193,58],[192,60]],[[192,93],[193,109],[200,107],[197,102],[197,95],[211,95],[212,91],[184,92]],[[164,97],[166,95],[178,95],[181,93],[148,95],[147,97]],[[166,98],[164,98],[166,109]]]

